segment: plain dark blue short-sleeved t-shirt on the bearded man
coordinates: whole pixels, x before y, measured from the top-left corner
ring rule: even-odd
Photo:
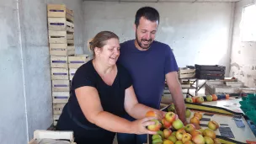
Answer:
[[[139,103],[159,109],[165,74],[179,70],[171,48],[153,41],[147,51],[140,51],[135,40],[128,40],[120,44],[118,61],[130,72]]]

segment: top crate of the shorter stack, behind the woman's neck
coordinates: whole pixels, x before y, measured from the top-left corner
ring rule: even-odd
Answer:
[[[81,67],[84,63],[88,61],[88,56],[68,56],[67,63],[69,68],[78,68]]]

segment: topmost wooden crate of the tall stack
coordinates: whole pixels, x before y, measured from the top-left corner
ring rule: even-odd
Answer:
[[[64,4],[47,4],[47,15],[53,18],[66,18],[74,21],[73,11],[68,9]]]

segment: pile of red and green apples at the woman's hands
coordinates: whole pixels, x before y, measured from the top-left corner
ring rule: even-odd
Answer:
[[[147,112],[147,116],[153,116],[153,112]],[[211,120],[205,130],[199,126],[202,114],[197,112],[190,119],[190,123],[184,125],[178,116],[168,112],[161,121],[155,121],[155,125],[148,125],[150,131],[157,131],[152,136],[152,144],[219,144],[216,139],[216,129],[219,125]],[[196,122],[196,123],[195,123]]]

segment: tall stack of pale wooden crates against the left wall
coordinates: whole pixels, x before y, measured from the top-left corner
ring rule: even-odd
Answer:
[[[68,56],[75,55],[73,12],[63,4],[48,4],[48,34],[54,125],[70,97]]]

